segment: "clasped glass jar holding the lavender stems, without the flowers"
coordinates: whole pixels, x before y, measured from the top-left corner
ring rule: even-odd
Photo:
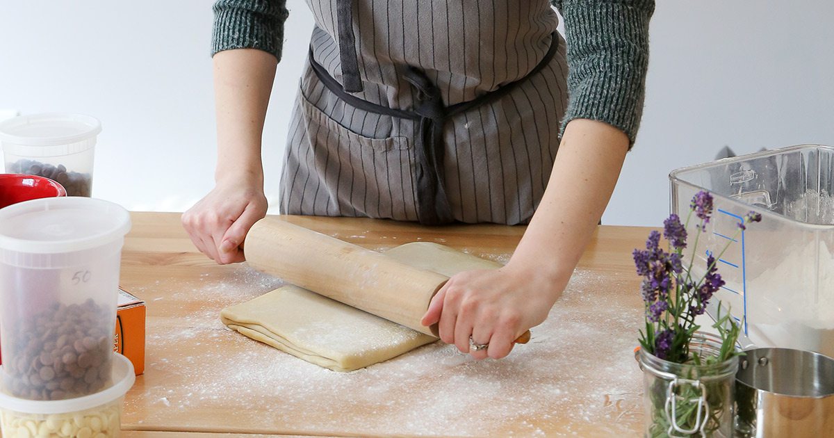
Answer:
[[[718,364],[706,360],[721,351],[721,338],[696,332],[686,364],[662,360],[640,349],[646,437],[733,435],[733,397],[738,356]]]

